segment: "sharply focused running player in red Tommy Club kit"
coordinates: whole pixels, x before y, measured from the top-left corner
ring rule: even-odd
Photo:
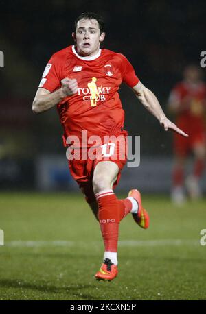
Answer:
[[[187,136],[165,117],[157,98],[139,81],[126,57],[100,49],[105,33],[98,14],[81,14],[72,36],[75,45],[54,53],[49,60],[32,106],[35,113],[40,113],[57,105],[65,145],[71,145],[68,138],[76,136],[80,139],[80,152],[83,154],[91,146],[89,141],[82,142],[82,131],[85,130],[88,138],[94,135],[100,139],[115,136],[126,144],[124,110],[118,94],[122,82],[133,89],[165,130],[172,129]],[[98,280],[112,280],[117,276],[119,222],[132,213],[139,226],[149,226],[148,213],[141,205],[138,190],[131,190],[125,200],[118,200],[113,192],[126,163],[126,154],[120,158],[121,147],[107,144],[111,145],[110,153],[115,149],[117,158],[112,159],[112,154],[102,152],[101,158],[69,160],[71,175],[100,223],[105,252],[102,266],[95,274]],[[103,148],[105,144],[101,145],[102,151]]]

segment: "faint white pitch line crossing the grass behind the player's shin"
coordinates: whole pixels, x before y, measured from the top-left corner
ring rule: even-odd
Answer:
[[[73,247],[85,245],[98,245],[102,242],[98,241],[10,241],[5,242],[5,247]],[[121,247],[155,247],[155,246],[183,246],[183,245],[200,245],[198,240],[181,240],[181,239],[159,239],[159,240],[127,240],[119,241]]]

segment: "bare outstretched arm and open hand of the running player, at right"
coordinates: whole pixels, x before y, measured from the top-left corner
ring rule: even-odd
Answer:
[[[188,136],[188,134],[177,128],[177,126],[165,116],[157,97],[151,90],[146,88],[144,84],[139,81],[132,89],[141,104],[159,120],[159,123],[163,126],[165,131],[171,129],[185,137]]]

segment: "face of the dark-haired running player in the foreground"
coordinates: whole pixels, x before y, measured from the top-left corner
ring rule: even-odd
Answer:
[[[100,34],[99,23],[95,19],[82,19],[78,21],[76,33],[72,36],[76,40],[77,52],[80,56],[94,56],[98,53],[105,33]]]

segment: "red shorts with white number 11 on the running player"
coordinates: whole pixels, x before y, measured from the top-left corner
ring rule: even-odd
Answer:
[[[95,202],[95,195],[93,193],[93,171],[99,162],[110,160],[117,164],[119,173],[117,180],[113,184],[113,189],[119,183],[121,177],[121,170],[126,164],[127,160],[127,139],[128,133],[123,131],[118,135],[119,141],[111,139],[102,146],[94,148],[80,148],[78,149],[78,158],[69,160],[69,170],[71,176],[78,183],[78,186],[84,193],[88,203]]]

